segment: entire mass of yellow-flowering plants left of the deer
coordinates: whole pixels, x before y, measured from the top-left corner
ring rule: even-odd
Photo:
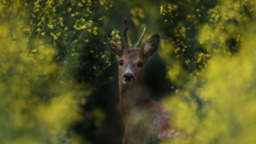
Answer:
[[[70,127],[83,120],[79,105],[93,88],[73,73],[82,56],[97,58],[91,71],[110,65],[110,53],[93,43],[103,35],[97,9],[109,3],[0,1],[0,143],[83,143]],[[97,108],[87,118],[100,126],[106,115]]]

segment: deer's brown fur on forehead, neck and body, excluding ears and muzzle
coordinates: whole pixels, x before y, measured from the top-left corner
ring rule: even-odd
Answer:
[[[137,69],[136,65],[137,62],[145,65],[147,60],[142,51],[123,50],[120,58],[124,62],[118,69],[120,106],[125,120],[123,143],[157,143],[177,135],[178,132],[169,126],[170,111],[164,109],[163,103],[150,100],[140,84],[144,66]],[[133,65],[133,84],[124,84],[121,79],[127,65]]]

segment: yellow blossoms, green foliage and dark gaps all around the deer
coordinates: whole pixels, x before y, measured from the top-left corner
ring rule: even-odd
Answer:
[[[106,34],[161,36],[143,81],[189,139],[255,143],[255,1],[0,1],[0,143],[121,143]],[[158,71],[156,71],[156,69]]]

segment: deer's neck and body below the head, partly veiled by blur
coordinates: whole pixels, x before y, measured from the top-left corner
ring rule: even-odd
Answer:
[[[120,90],[126,87],[119,86]],[[171,137],[166,133],[169,113],[164,111],[162,103],[148,99],[140,84],[127,86],[120,92],[120,105],[125,120],[123,143],[156,143]]]

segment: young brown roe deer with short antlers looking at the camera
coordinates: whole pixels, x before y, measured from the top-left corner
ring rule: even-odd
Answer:
[[[163,103],[148,98],[146,90],[140,83],[142,70],[148,57],[152,56],[160,42],[159,35],[153,35],[139,49],[145,28],[139,41],[132,45],[127,33],[127,20],[123,23],[125,45],[114,31],[108,33],[110,48],[119,56],[119,103],[125,121],[123,143],[158,143],[182,132],[169,125],[170,111],[164,109]]]

